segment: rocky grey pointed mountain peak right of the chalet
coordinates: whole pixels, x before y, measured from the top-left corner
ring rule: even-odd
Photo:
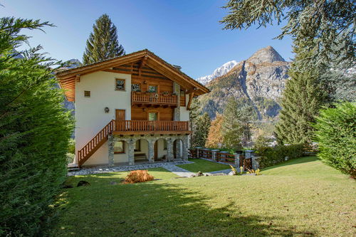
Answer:
[[[211,92],[199,96],[202,112],[214,118],[233,96],[242,105],[252,105],[256,120],[275,120],[281,110],[278,100],[288,79],[290,63],[271,46],[261,48],[229,72],[206,84]],[[218,68],[219,69],[219,68]]]

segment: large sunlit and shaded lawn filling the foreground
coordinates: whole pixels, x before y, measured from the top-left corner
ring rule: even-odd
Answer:
[[[355,180],[315,157],[261,176],[161,179],[111,185],[125,173],[70,178],[53,236],[355,236]]]

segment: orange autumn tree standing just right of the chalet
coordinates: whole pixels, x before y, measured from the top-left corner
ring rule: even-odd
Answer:
[[[208,137],[206,138],[205,147],[220,148],[224,142],[224,137],[221,134],[221,126],[224,117],[220,114],[216,115],[215,120],[211,121]]]

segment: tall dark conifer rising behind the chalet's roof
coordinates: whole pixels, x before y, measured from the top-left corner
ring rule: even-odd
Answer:
[[[83,53],[83,64],[95,63],[108,58],[125,55],[117,41],[117,28],[107,14],[100,16],[93,25]]]

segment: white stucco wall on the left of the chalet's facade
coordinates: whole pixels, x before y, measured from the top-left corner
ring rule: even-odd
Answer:
[[[125,91],[115,90],[115,78],[125,79]],[[90,98],[84,97],[90,91]],[[95,72],[80,77],[75,82],[75,154],[97,135],[110,120],[115,110],[126,110],[126,120],[131,120],[131,75]],[[110,112],[105,113],[104,108]],[[115,154],[115,162],[125,160],[126,154]],[[108,142],[95,152],[85,165],[108,164]]]

